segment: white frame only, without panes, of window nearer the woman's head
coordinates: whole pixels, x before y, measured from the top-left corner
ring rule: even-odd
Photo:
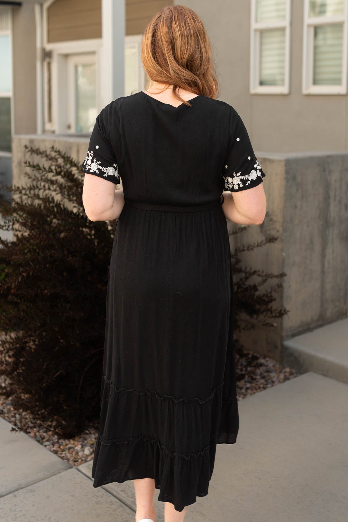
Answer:
[[[286,0],[285,20],[256,22],[256,0],[251,0],[250,30],[250,94],[289,94],[290,92],[290,30],[291,0]],[[262,29],[285,29],[284,85],[259,85],[260,79],[260,33]]]

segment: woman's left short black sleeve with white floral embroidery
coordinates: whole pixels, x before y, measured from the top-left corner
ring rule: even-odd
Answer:
[[[84,172],[120,183],[117,159],[110,143],[112,102],[102,108],[89,139],[86,158],[82,163]]]

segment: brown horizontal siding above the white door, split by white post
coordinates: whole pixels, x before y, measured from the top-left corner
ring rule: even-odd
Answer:
[[[173,0],[126,0],[125,33],[141,34],[150,19]],[[48,8],[48,41],[101,38],[101,0],[55,0]]]

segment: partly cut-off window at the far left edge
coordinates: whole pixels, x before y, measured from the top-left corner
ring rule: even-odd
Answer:
[[[0,7],[0,151],[11,152],[11,11]]]

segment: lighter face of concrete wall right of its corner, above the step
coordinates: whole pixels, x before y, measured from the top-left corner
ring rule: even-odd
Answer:
[[[348,155],[285,160],[284,336],[347,315]]]

